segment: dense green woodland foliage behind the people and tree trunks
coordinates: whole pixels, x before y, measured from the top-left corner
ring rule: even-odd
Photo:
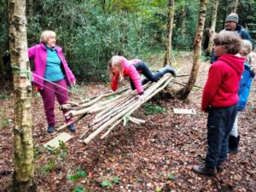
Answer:
[[[212,4],[207,3],[205,29],[211,26]],[[193,49],[200,1],[175,1],[172,54]],[[216,32],[234,10],[240,23],[256,38],[254,0],[219,1]],[[168,21],[166,0],[26,1],[28,47],[38,44],[45,29],[57,34],[57,44],[66,54],[75,76],[84,83],[108,80],[107,62],[112,55],[141,58],[163,52]],[[0,80],[11,79],[7,1],[0,3]],[[207,35],[205,36],[207,37]],[[203,41],[204,49],[207,48]],[[172,58],[172,57],[171,57]],[[173,59],[173,58],[172,58]]]

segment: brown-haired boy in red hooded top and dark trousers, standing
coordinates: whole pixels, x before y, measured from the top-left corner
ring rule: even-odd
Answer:
[[[224,170],[245,62],[244,58],[236,55],[240,49],[241,38],[235,32],[220,32],[214,38],[214,52],[218,61],[209,69],[201,101],[201,109],[208,113],[207,156],[204,164],[192,168],[199,174],[213,176],[217,171]]]

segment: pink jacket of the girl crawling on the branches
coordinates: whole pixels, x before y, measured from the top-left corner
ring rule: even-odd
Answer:
[[[143,85],[141,83],[141,78],[140,75],[137,71],[137,69],[133,66],[134,64],[136,64],[137,62],[139,62],[140,60],[138,59],[133,59],[133,60],[126,60],[125,57],[120,56],[121,57],[121,64],[123,66],[124,72],[123,72],[123,76],[125,77],[130,77],[131,80],[133,81],[137,93],[138,94],[143,94],[144,90],[143,90]],[[117,90],[119,86],[119,73],[116,74],[112,79],[111,79],[111,89],[112,90]]]

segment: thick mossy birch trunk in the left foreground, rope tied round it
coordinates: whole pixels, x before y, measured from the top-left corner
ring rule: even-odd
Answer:
[[[32,86],[26,39],[26,1],[9,0],[9,50],[15,93],[13,191],[36,191],[33,183]]]

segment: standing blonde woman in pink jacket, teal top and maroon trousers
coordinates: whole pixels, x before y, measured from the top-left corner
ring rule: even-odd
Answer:
[[[68,102],[67,85],[74,85],[76,79],[67,66],[61,47],[55,45],[56,35],[53,31],[41,34],[40,44],[28,49],[29,59],[33,61],[32,84],[38,90],[44,101],[44,110],[48,122],[47,132],[55,128],[55,96],[60,105]],[[63,111],[66,113],[67,111]],[[66,123],[72,119],[66,119]],[[69,125],[70,131],[76,131],[74,124]]]

